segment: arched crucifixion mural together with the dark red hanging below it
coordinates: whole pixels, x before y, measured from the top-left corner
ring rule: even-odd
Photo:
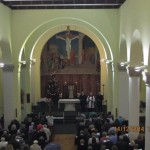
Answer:
[[[95,43],[77,31],[60,32],[51,37],[41,54],[41,96],[44,97],[50,74],[55,73],[60,93],[68,98],[68,87],[74,97],[84,91],[97,94],[100,90],[100,56]]]

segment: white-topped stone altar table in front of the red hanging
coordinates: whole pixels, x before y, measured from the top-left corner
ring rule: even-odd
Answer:
[[[64,111],[75,111],[76,104],[80,103],[79,99],[59,99],[58,101],[58,108],[60,108],[60,104],[64,104],[65,108]]]

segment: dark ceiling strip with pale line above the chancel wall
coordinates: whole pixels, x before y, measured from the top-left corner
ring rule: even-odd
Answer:
[[[0,0],[11,9],[117,9],[126,0]]]

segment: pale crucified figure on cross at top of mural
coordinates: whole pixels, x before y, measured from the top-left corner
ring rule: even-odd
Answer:
[[[72,42],[72,40],[79,38],[79,36],[78,35],[72,35],[70,33],[69,26],[67,26],[66,34],[65,35],[58,35],[58,36],[56,36],[56,38],[64,40],[66,42],[67,58],[70,59],[71,42]]]

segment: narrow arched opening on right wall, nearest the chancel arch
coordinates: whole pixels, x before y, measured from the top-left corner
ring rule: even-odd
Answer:
[[[121,37],[120,41],[120,51],[119,51],[119,62],[127,62],[128,57],[127,57],[127,42],[126,38],[124,35]]]

